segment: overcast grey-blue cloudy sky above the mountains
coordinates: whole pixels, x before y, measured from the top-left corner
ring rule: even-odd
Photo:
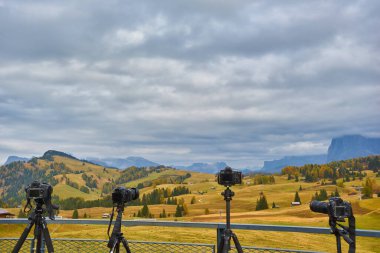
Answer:
[[[0,161],[257,167],[380,136],[380,1],[0,0]]]

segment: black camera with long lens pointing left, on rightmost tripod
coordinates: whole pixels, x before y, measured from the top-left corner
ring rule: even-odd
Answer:
[[[337,220],[352,217],[351,204],[339,197],[332,197],[328,202],[312,201],[310,210],[317,213],[328,214],[330,217]]]

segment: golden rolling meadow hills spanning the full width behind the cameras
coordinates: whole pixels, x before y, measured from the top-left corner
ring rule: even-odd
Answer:
[[[310,182],[302,174],[304,170],[309,169],[307,166],[292,168],[292,170],[286,169],[283,175],[273,175],[273,180],[268,180],[267,177],[270,177],[268,175],[246,176],[243,185],[232,187],[235,192],[231,202],[232,222],[326,227],[328,224],[327,215],[311,212],[308,205],[310,200],[315,197],[316,192],[326,191],[328,195],[338,192],[343,199],[352,203],[358,229],[380,229],[378,222],[380,220],[380,198],[372,194],[372,198],[360,200],[361,195],[358,190],[358,186],[363,186],[371,181],[373,193],[379,192],[379,161],[380,157],[374,156],[313,167],[312,173],[321,174],[320,178],[314,179],[313,177]],[[335,185],[329,179],[329,173],[326,174],[326,178],[323,178],[323,171],[328,171],[326,170],[327,167],[335,169],[341,167],[339,170],[353,174],[350,174],[349,180],[347,180],[346,177],[340,177],[340,174],[337,173],[338,178]],[[300,173],[298,178],[295,177],[294,173]],[[65,205],[67,207],[67,202],[71,204],[72,208],[61,208],[60,210],[59,215],[65,218],[72,217],[74,208],[78,208],[79,218],[101,218],[103,213],[111,211],[110,204],[112,201],[109,198],[107,199],[107,196],[109,197],[112,187],[124,185],[126,187],[142,187],[139,201],[128,203],[124,219],[135,219],[135,216],[142,210],[141,204],[144,203],[144,199],[148,203],[151,217],[155,219],[197,222],[224,222],[225,219],[225,202],[221,196],[221,192],[225,188],[217,184],[213,174],[176,170],[164,166],[153,168],[130,167],[126,170],[118,170],[65,155],[53,155],[49,159],[42,156],[29,162],[14,162],[0,167],[0,189],[2,191],[0,194],[2,200],[6,202],[3,204],[8,205],[9,211],[15,214],[20,212],[20,208],[15,206],[24,201],[23,186],[36,178],[54,183],[53,194],[59,196],[61,207]],[[23,184],[18,184],[18,181]],[[16,186],[13,187],[13,185]],[[81,187],[87,187],[88,192],[81,191]],[[16,194],[12,195],[10,192],[12,190]],[[292,206],[291,202],[294,201],[297,191],[301,205]],[[165,196],[168,193],[170,194]],[[269,209],[256,211],[257,200],[261,195],[266,196]],[[175,204],[172,203],[173,197]],[[98,201],[98,199],[103,198],[105,201]],[[55,198],[54,201],[57,199]],[[9,208],[10,204],[14,208]],[[271,208],[273,204],[275,208]],[[183,217],[176,217],[178,206],[186,207],[186,213],[183,213]],[[166,217],[160,218],[163,210],[165,210]],[[19,236],[22,228],[17,226],[0,225],[0,236]],[[105,239],[104,236],[106,235],[106,228],[104,227],[53,225],[52,228],[54,228],[52,230],[54,237]],[[128,236],[132,240],[144,240],[147,237],[152,239],[154,236],[154,240],[166,241],[168,235],[175,232],[178,235],[176,240],[179,241],[210,243],[215,233],[215,231],[206,231],[205,229],[194,229],[189,233],[188,228],[162,228],[160,233],[149,231],[145,231],[141,227],[130,227],[128,228]],[[207,233],[207,237],[204,236],[205,233]],[[273,237],[268,237],[266,234],[265,238],[260,237],[261,233],[253,234],[249,231],[247,234],[241,231],[239,233],[240,238],[246,244],[256,245],[258,243],[257,238],[262,238],[266,246],[289,247],[283,245],[284,241],[289,242],[289,245],[298,245],[299,243],[299,237],[297,237],[298,239],[296,237],[289,239],[286,238],[287,235],[280,233]],[[317,238],[323,239],[322,236]],[[373,252],[371,247],[375,242],[370,239],[361,240],[358,245],[360,252]],[[363,243],[364,240],[367,241]],[[313,239],[314,241],[316,240]],[[310,242],[305,242],[305,244],[309,245]],[[318,243],[315,244],[315,247],[318,248]],[[334,245],[325,245],[323,249],[332,251]]]

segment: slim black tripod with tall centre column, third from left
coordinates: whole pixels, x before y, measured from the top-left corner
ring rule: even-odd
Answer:
[[[224,196],[224,200],[226,201],[226,229],[223,232],[222,240],[218,247],[218,253],[228,253],[231,250],[231,237],[234,240],[235,247],[238,253],[243,253],[243,249],[237,239],[237,236],[231,230],[231,222],[230,222],[230,212],[231,212],[231,203],[232,197],[235,195],[233,191],[227,186],[227,189],[222,192]]]

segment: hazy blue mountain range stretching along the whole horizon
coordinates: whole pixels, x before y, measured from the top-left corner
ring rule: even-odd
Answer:
[[[302,166],[305,164],[324,164],[331,161],[339,161],[345,159],[351,159],[356,157],[364,157],[368,155],[380,154],[380,138],[367,138],[361,135],[345,135],[336,137],[331,140],[331,144],[326,154],[317,155],[304,155],[304,156],[285,156],[281,159],[273,161],[265,161],[261,172],[264,173],[277,173],[286,166]],[[68,158],[77,159],[71,155],[60,151],[49,150],[45,152],[43,158],[50,159],[53,155],[66,156]],[[28,161],[29,158],[9,156],[6,164],[15,161]],[[77,159],[79,160],[79,159]],[[87,158],[86,160],[94,164],[98,164],[104,167],[113,167],[118,169],[125,169],[131,166],[135,167],[155,167],[160,164],[149,161],[143,157],[130,156],[127,158]],[[170,167],[204,172],[204,173],[216,173],[219,170],[225,168],[227,164],[225,162],[215,163],[193,163],[189,166],[171,165]]]

